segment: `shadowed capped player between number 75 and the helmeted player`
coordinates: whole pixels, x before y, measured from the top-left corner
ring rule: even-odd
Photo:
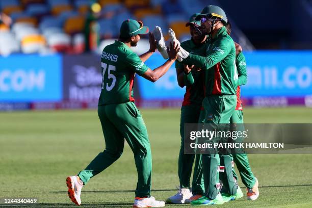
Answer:
[[[181,46],[188,52],[196,54],[205,54],[205,43],[208,40],[207,35],[198,33],[200,21],[195,18],[200,13],[193,14],[186,27],[190,28],[191,39],[181,43]],[[190,200],[197,199],[204,194],[201,167],[201,154],[196,155],[194,175],[192,182],[192,192],[190,191],[190,178],[195,154],[184,154],[184,124],[185,123],[204,123],[204,111],[202,109],[202,100],[204,98],[204,71],[193,66],[185,66],[176,61],[176,75],[178,85],[186,86],[186,93],[181,107],[180,118],[180,136],[181,146],[178,159],[178,176],[180,188],[177,194],[167,199],[170,203],[189,203]]]

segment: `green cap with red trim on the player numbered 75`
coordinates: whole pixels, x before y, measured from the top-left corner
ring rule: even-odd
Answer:
[[[120,27],[120,36],[123,38],[129,38],[138,34],[147,34],[149,28],[144,26],[143,22],[134,19],[127,19],[122,22]]]

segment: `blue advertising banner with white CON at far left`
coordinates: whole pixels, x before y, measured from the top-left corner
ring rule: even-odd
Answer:
[[[60,101],[60,55],[0,57],[0,101]]]

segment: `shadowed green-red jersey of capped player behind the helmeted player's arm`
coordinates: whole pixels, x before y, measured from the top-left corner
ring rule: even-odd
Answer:
[[[207,38],[208,40],[208,38]],[[207,42],[207,41],[206,41]],[[206,44],[203,43],[201,45],[196,45],[192,39],[181,42],[181,47],[183,47],[188,52],[192,52],[199,56],[205,55]],[[180,68],[183,70],[183,64],[176,61],[175,68]],[[193,82],[188,82],[188,77],[185,79],[186,85],[186,93],[184,94],[184,99],[182,102],[182,106],[190,106],[190,105],[202,105],[202,100],[204,98],[204,70],[196,71],[192,70],[191,74],[186,76],[192,76],[190,79]]]

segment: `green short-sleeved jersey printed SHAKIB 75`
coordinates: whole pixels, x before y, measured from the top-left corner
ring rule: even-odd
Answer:
[[[101,68],[102,90],[98,106],[134,101],[135,73],[142,75],[148,69],[137,54],[117,40],[103,49]]]

